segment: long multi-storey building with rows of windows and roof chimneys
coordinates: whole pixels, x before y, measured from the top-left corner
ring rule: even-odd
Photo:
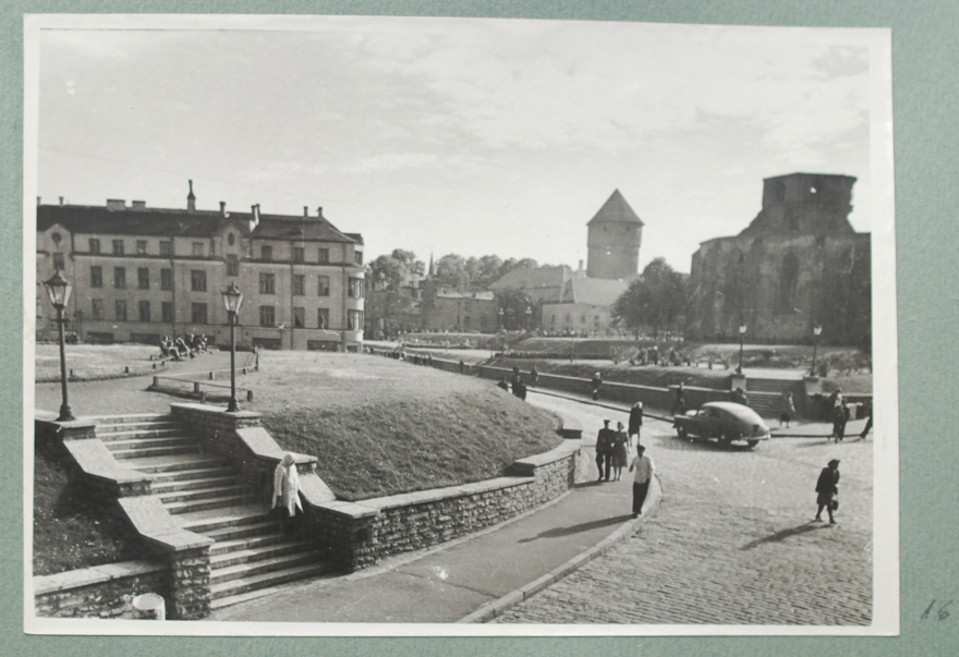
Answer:
[[[158,343],[203,333],[229,340],[221,292],[243,292],[238,342],[357,351],[363,342],[363,239],[323,216],[105,206],[37,199],[37,338],[56,337],[43,281],[74,285],[66,316],[83,341]]]

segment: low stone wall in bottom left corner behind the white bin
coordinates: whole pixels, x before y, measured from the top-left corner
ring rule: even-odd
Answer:
[[[156,593],[170,599],[170,571],[155,561],[84,568],[36,576],[33,583],[36,615],[51,618],[133,618],[135,596]]]

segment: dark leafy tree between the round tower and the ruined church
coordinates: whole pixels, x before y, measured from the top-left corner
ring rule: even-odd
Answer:
[[[640,338],[644,328],[670,329],[685,314],[687,276],[670,267],[665,258],[656,258],[630,283],[612,306],[612,318]]]

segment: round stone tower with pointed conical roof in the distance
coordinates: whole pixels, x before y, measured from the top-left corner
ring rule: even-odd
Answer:
[[[643,222],[616,190],[587,223],[586,277],[630,280],[639,273]]]

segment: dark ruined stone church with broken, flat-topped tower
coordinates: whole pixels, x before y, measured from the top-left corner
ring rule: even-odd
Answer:
[[[693,254],[687,338],[869,345],[870,235],[849,222],[848,175],[764,180],[760,214],[741,233]]]

